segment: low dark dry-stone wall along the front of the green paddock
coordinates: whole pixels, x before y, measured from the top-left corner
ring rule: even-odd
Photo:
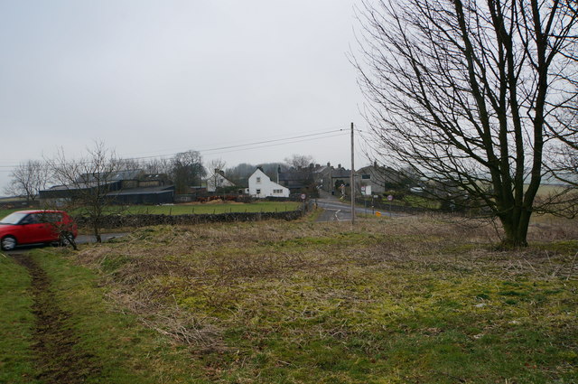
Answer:
[[[153,225],[191,225],[210,222],[239,222],[259,220],[296,220],[303,216],[303,211],[284,212],[234,212],[200,215],[111,215],[103,218],[100,227],[103,229],[123,227],[148,227]],[[79,227],[88,227],[89,219],[76,217]]]

